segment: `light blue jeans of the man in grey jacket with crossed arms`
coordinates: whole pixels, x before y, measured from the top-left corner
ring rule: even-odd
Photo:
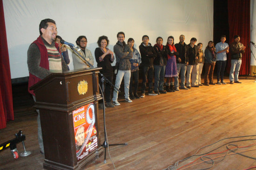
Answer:
[[[131,77],[131,70],[118,70],[118,73],[115,77],[115,87],[120,88],[122,79],[124,80],[124,97],[129,97],[129,85],[130,85],[130,77]],[[113,101],[117,101],[118,98],[118,91],[114,88],[113,94]]]

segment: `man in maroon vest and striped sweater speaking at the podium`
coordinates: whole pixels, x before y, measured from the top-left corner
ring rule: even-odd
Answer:
[[[52,72],[67,71],[67,64],[61,56],[59,45],[54,43],[57,35],[55,21],[53,19],[41,20],[39,32],[40,36],[27,50],[27,67],[29,71],[28,92],[33,94],[34,100],[34,91],[29,90],[31,86],[47,77]],[[38,142],[41,150],[40,152],[44,154],[39,110],[37,110],[37,112]]]

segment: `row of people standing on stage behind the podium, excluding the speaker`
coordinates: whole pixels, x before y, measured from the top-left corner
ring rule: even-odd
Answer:
[[[58,36],[56,41],[58,42]],[[166,45],[163,45],[163,38],[156,38],[156,44],[152,46],[148,41],[148,35],[142,37],[139,46],[140,52],[134,47],[134,39],[129,38],[127,44],[124,41],[125,33],[117,33],[117,43],[114,52],[108,49],[108,37],[101,36],[98,39],[98,48],[94,51],[97,67],[101,67],[101,73],[113,82],[114,70],[111,63],[116,60],[115,65],[115,87],[120,88],[124,79],[125,101],[132,102],[134,99],[145,97],[146,84],[148,82],[148,95],[166,94],[167,92],[180,91],[191,87],[209,86],[215,84],[226,84],[223,80],[224,71],[227,63],[227,54],[231,52],[230,84],[241,83],[238,81],[238,73],[242,63],[242,53],[245,47],[239,42],[240,37],[234,37],[234,43],[225,43],[226,36],[221,36],[221,42],[214,46],[213,41],[209,41],[205,50],[202,50],[202,43],[196,45],[197,39],[191,38],[190,43],[184,42],[185,36],[180,35],[179,43],[174,43],[174,37],[169,36]],[[87,38],[80,36],[76,40],[80,54],[94,64],[94,58],[90,50],[86,49]],[[61,46],[62,44],[60,44]],[[115,53],[115,57],[114,57]],[[64,60],[65,53],[62,53]],[[72,54],[74,69],[87,68],[89,65],[76,53]],[[141,65],[142,84],[141,95],[138,94],[139,66]],[[213,72],[217,66],[217,83],[213,82]],[[201,82],[202,68],[205,67],[204,82]],[[235,75],[234,75],[235,73]],[[179,83],[179,75],[181,83]],[[155,77],[153,87],[153,77]],[[166,77],[164,89],[164,79]],[[185,83],[186,81],[186,83]],[[100,86],[102,86],[102,82]],[[105,86],[105,101],[107,107],[119,106],[118,91],[114,89],[111,99],[112,87],[110,84]],[[103,108],[103,102],[100,108]]]

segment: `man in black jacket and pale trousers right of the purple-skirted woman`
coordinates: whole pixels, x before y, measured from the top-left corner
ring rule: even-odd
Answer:
[[[188,88],[185,87],[185,79],[186,79],[186,70],[187,70],[187,64],[186,64],[186,54],[188,52],[188,46],[184,42],[185,36],[180,35],[180,42],[175,44],[175,48],[177,52],[179,53],[176,56],[176,63],[177,63],[177,74],[178,76],[175,77],[174,80],[174,86],[175,86],[175,91],[180,91],[179,90],[179,74],[181,73],[181,88],[187,90]]]

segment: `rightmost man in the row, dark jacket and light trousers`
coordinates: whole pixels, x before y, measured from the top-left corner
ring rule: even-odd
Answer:
[[[240,36],[234,36],[235,42],[230,44],[230,53],[231,53],[231,68],[229,73],[230,84],[242,83],[238,80],[239,70],[242,64],[242,53],[244,53],[245,47],[240,43]],[[235,73],[235,74],[234,74]]]

